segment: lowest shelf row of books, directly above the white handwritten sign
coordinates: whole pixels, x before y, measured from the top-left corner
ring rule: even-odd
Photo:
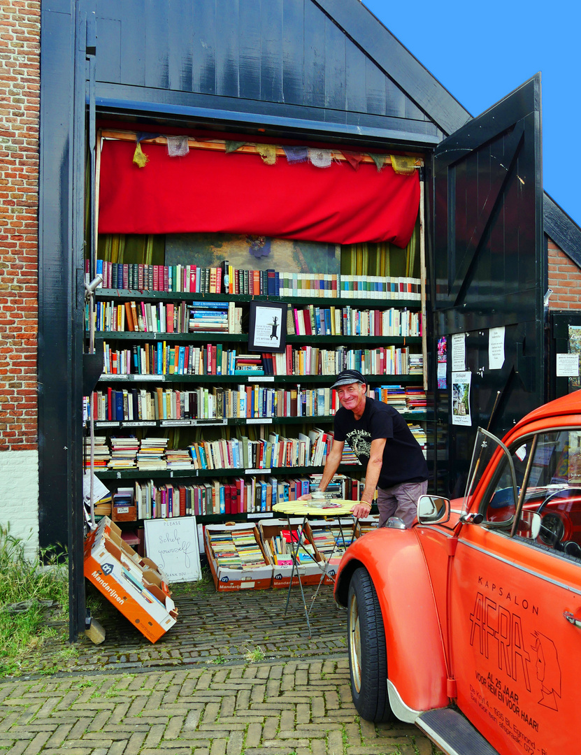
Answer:
[[[286,478],[272,475],[218,479],[195,485],[157,483],[153,479],[134,482],[134,502],[138,519],[171,519],[176,516],[206,516],[268,512],[276,503],[295,501],[311,492],[313,476]],[[359,501],[365,480],[335,475],[339,498]]]

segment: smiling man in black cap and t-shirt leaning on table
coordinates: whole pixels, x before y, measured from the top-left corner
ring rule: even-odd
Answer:
[[[377,487],[379,526],[390,516],[398,516],[409,527],[416,518],[418,498],[428,488],[422,448],[398,411],[366,396],[365,377],[357,370],[340,372],[332,389],[341,408],[335,414],[335,439],[319,489],[324,491],[329,485],[347,440],[366,470],[363,495],[351,509],[353,515],[369,515]]]

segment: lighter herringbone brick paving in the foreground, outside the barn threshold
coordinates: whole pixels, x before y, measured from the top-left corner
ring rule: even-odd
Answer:
[[[2,683],[0,748],[11,755],[432,751],[413,726],[359,719],[346,658]]]

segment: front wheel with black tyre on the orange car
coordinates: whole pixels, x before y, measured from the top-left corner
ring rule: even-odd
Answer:
[[[366,721],[392,721],[388,699],[388,658],[382,611],[369,573],[356,569],[349,584],[348,646],[351,696]]]

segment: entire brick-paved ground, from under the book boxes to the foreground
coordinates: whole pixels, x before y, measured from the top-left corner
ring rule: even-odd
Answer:
[[[314,589],[307,590],[307,600]],[[0,750],[11,755],[431,755],[407,724],[374,726],[351,701],[346,616],[329,587],[308,638],[298,590],[217,594],[178,587],[180,619],[151,645],[119,613],[98,616],[101,646],[85,638],[47,674],[0,683]],[[249,654],[257,661],[252,663]],[[44,671],[44,673],[43,673]]]

